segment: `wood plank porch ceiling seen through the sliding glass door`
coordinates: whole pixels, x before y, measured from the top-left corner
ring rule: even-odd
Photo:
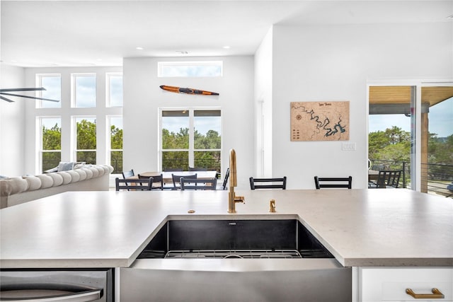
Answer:
[[[422,87],[422,103],[430,107],[453,97],[453,87]],[[370,86],[369,104],[410,104],[411,86]]]

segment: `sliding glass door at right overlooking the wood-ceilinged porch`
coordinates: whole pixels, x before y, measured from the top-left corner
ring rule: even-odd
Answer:
[[[370,169],[402,170],[399,187],[449,196],[452,97],[453,83],[370,85]]]

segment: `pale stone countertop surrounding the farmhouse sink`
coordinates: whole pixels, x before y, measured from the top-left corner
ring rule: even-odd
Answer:
[[[299,219],[338,262],[453,267],[453,201],[410,190],[66,192],[0,210],[0,267],[129,267],[168,219]],[[275,199],[277,212],[269,213]],[[194,209],[194,214],[188,214]]]

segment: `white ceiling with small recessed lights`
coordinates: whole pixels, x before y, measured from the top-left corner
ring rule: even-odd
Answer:
[[[121,66],[123,57],[248,55],[273,24],[453,21],[447,18],[453,0],[2,0],[0,8],[0,59],[16,66]]]

